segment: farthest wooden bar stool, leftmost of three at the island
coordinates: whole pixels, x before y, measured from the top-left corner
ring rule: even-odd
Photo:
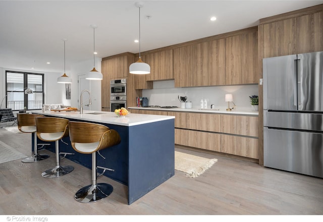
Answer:
[[[43,159],[47,159],[49,155],[47,154],[38,154],[37,153],[37,135],[36,135],[36,117],[43,117],[39,114],[17,114],[18,120],[18,130],[23,133],[33,133],[34,134],[34,154],[31,157],[27,157],[22,160],[22,162],[37,162]],[[45,145],[45,144],[38,144]]]

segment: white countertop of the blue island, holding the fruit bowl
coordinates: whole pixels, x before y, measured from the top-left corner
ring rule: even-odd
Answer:
[[[53,117],[60,117],[60,118],[72,118],[76,120],[92,121],[97,123],[114,124],[114,125],[120,125],[120,126],[135,126],[135,125],[141,125],[146,123],[153,123],[158,121],[175,119],[175,117],[172,117],[172,116],[132,114],[132,113],[129,113],[125,117],[118,117],[113,112],[103,112],[103,111],[93,111],[93,110],[83,110],[83,114],[80,114],[79,111],[69,111],[69,112],[33,111],[31,113],[45,114],[45,115],[50,115]]]

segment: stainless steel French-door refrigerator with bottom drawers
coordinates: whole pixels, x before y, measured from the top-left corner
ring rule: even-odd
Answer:
[[[264,166],[323,178],[323,51],[263,59]]]

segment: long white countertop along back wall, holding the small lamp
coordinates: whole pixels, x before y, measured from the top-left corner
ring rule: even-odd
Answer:
[[[231,115],[252,115],[258,116],[258,112],[253,112],[251,110],[222,110],[222,109],[212,109],[212,108],[152,108],[152,107],[128,107],[128,109],[146,109],[146,110],[156,110],[156,111],[169,111],[169,112],[193,112],[193,113],[214,113],[214,114],[231,114]],[[131,110],[130,110],[131,112]]]

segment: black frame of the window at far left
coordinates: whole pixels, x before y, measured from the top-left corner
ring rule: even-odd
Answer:
[[[7,82],[7,73],[19,73],[19,74],[23,74],[24,75],[24,84],[23,87],[24,89],[22,89],[22,91],[19,90],[14,90],[14,91],[8,91],[8,82]],[[31,73],[31,72],[21,72],[21,71],[10,71],[10,70],[6,70],[6,104],[5,107],[7,108],[7,104],[8,104],[8,93],[11,92],[24,92],[25,88],[28,88],[28,75],[40,75],[41,76],[41,81],[42,81],[42,91],[33,91],[33,93],[42,93],[42,104],[44,104],[45,101],[45,93],[44,93],[44,74],[43,73]],[[28,107],[28,94],[24,93],[24,107],[27,107],[27,110],[39,110],[41,108],[35,108],[35,109],[30,109]],[[15,109],[13,111],[19,111],[20,109]]]

